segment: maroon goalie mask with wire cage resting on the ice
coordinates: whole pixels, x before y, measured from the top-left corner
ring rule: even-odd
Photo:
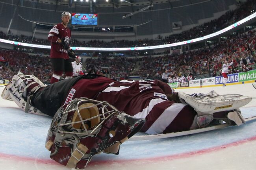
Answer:
[[[144,119],[121,113],[108,102],[75,99],[54,115],[46,148],[58,163],[82,169],[97,153],[119,154],[119,145],[137,133],[144,123]]]

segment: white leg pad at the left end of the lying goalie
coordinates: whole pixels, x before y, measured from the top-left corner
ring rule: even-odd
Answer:
[[[35,76],[24,76],[24,74],[19,72],[14,75],[10,83],[6,85],[1,96],[5,100],[14,101],[25,112],[33,113],[35,115],[45,115],[37,108],[30,105],[30,94],[39,90],[40,87],[45,86],[46,85]],[[29,91],[27,91],[28,88],[30,89]]]

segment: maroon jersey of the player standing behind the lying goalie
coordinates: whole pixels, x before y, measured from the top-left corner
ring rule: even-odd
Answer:
[[[71,31],[65,28],[61,23],[54,26],[48,34],[48,41],[51,42],[51,58],[69,59],[67,50],[62,48],[62,44],[58,42],[59,39],[65,38],[69,42]]]

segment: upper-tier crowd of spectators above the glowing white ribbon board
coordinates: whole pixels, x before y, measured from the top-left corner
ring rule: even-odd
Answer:
[[[106,48],[120,48],[120,47],[139,47],[139,46],[154,46],[160,44],[169,44],[174,42],[181,42],[186,41],[198,37],[202,37],[208,35],[210,33],[216,32],[221,30],[231,24],[234,24],[238,20],[249,16],[250,14],[256,11],[256,1],[255,0],[248,0],[243,3],[237,4],[237,9],[231,10],[226,12],[221,17],[211,20],[210,22],[206,22],[200,26],[196,26],[191,28],[190,30],[183,31],[179,34],[171,34],[166,37],[161,37],[160,35],[156,40],[154,39],[143,39],[143,40],[136,40],[136,41],[127,41],[127,40],[115,40],[111,42],[106,41],[98,41],[98,40],[91,40],[88,42],[85,41],[78,41],[73,39],[72,46],[83,46],[83,47],[106,47]],[[19,42],[26,42],[32,44],[45,44],[49,45],[47,39],[38,39],[32,36],[25,36],[25,35],[11,35],[5,34],[0,31],[0,38],[8,39],[13,41]]]

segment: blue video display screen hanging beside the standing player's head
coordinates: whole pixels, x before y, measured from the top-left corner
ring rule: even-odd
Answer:
[[[72,25],[97,25],[98,14],[72,13]]]

